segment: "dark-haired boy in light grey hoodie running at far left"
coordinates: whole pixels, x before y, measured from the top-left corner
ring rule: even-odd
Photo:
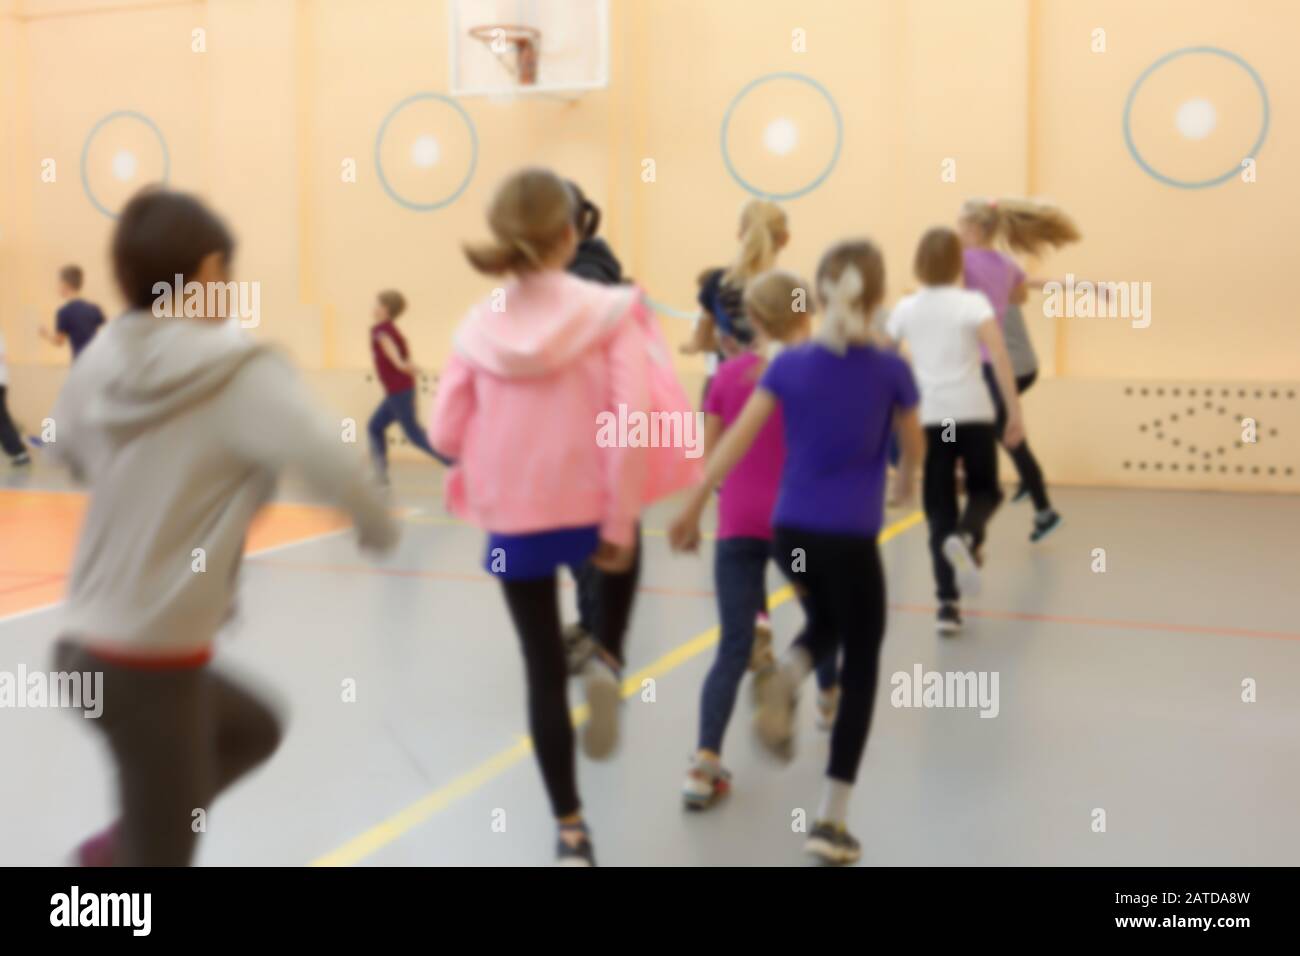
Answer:
[[[133,198],[112,246],[129,311],[73,365],[53,412],[49,450],[90,486],[57,667],[104,675],[96,726],[121,803],[118,822],[82,844],[87,865],[188,864],[195,810],[280,741],[274,713],[208,662],[281,472],[351,514],[363,548],[396,541],[364,458],[292,367],[226,319],[230,297],[212,294],[234,289],[233,250],[192,196]],[[202,303],[174,300],[178,281]]]

